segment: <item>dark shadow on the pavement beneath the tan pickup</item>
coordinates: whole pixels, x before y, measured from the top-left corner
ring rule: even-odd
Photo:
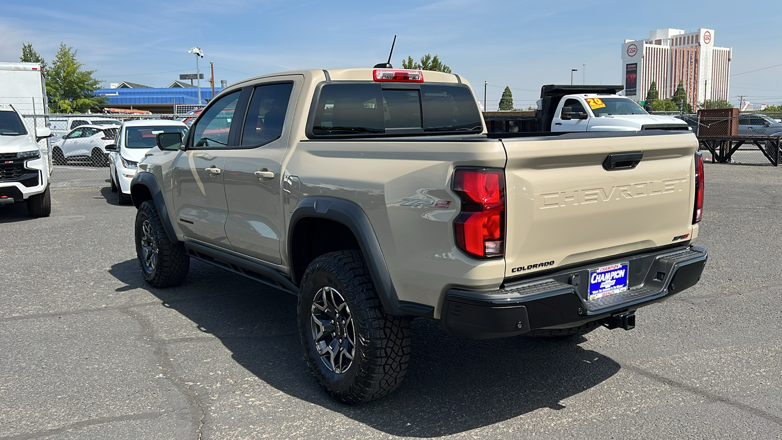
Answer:
[[[437,321],[417,319],[411,363],[400,388],[363,406],[345,406],[325,395],[307,368],[292,295],[200,261],[192,261],[185,284],[170,289],[149,287],[135,260],[113,265],[109,272],[128,285],[117,291],[149,290],[164,307],[219,338],[235,362],[272,387],[389,435],[451,435],[536,409],[563,409],[563,399],[600,384],[620,368],[579,347],[583,337],[567,342],[521,337],[473,341],[445,333]]]

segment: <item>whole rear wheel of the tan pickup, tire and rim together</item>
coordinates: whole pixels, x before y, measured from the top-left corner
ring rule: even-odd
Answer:
[[[361,252],[315,258],[301,286],[301,341],[325,391],[358,404],[395,390],[410,361],[410,319],[386,315]]]

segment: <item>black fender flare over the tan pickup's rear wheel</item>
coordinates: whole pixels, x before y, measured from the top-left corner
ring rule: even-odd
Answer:
[[[429,305],[399,301],[375,229],[364,210],[350,200],[323,196],[310,196],[300,200],[293,211],[288,229],[289,257],[293,252],[292,234],[296,230],[296,223],[311,217],[333,220],[350,229],[361,247],[361,253],[364,254],[370,276],[375,283],[375,290],[386,313],[393,316],[434,316],[434,308]]]

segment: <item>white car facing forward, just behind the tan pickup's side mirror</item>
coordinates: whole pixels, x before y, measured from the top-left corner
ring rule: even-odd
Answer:
[[[109,179],[111,190],[117,192],[117,203],[131,201],[131,180],[136,175],[138,161],[152,148],[157,148],[158,133],[178,132],[184,137],[187,125],[180,121],[146,119],[125,121],[114,145],[109,146]]]

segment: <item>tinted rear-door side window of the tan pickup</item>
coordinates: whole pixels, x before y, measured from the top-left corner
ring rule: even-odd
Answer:
[[[259,85],[247,107],[240,145],[261,146],[282,135],[292,83]]]

